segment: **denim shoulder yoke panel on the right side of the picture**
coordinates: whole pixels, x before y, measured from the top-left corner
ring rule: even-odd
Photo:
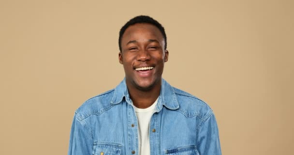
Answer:
[[[206,121],[212,114],[212,109],[201,99],[196,96],[173,87],[176,99],[179,104],[179,112],[186,117],[197,116],[203,121]]]

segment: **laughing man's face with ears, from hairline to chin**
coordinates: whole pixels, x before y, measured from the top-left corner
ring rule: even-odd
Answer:
[[[168,60],[164,46],[161,31],[151,24],[138,23],[126,29],[118,58],[128,87],[148,91],[161,84],[164,62]]]

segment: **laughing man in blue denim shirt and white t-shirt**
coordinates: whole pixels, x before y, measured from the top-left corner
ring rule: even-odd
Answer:
[[[149,16],[119,32],[124,80],[75,111],[69,155],[221,155],[212,110],[162,79],[166,34]]]

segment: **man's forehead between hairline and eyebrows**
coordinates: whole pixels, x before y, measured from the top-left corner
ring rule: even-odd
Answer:
[[[157,39],[159,42],[163,40],[162,33],[156,26],[147,23],[137,23],[126,29],[121,41],[124,43],[142,38]]]

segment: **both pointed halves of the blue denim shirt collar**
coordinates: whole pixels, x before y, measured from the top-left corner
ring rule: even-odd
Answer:
[[[123,100],[123,97],[125,97],[125,99],[129,103],[132,103],[132,100],[130,99],[129,91],[127,89],[125,78],[115,88],[114,94],[111,100],[111,104],[121,103]],[[160,91],[160,95],[158,98],[158,103],[155,108],[155,111],[159,112],[162,109],[162,105],[172,110],[179,108],[174,88],[169,83],[167,83],[163,78],[162,78],[162,87],[161,87],[161,91]]]

